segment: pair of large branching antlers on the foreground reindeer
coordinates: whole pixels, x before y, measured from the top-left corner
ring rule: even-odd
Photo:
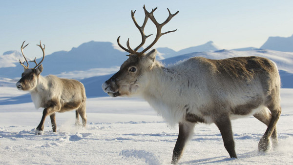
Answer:
[[[172,31],[167,31],[167,32],[165,32],[165,33],[162,33],[162,32],[161,32],[162,27],[163,27],[165,24],[167,24],[167,22],[170,21],[170,20],[171,20],[176,14],[179,13],[179,11],[177,11],[175,14],[171,14],[171,13],[170,13],[170,10],[167,9],[168,12],[169,12],[169,16],[168,16],[167,20],[164,21],[163,23],[158,23],[158,22],[156,21],[154,15],[153,15],[153,12],[157,9],[157,7],[156,7],[155,9],[152,9],[150,13],[146,10],[146,6],[145,6],[145,5],[144,5],[143,8],[144,8],[144,10],[145,10],[145,15],[146,15],[146,17],[145,17],[145,21],[144,21],[144,23],[143,23],[142,26],[139,26],[139,25],[137,24],[137,22],[135,21],[134,13],[135,13],[136,10],[135,10],[134,12],[132,12],[132,10],[131,10],[131,18],[132,18],[132,20],[133,20],[135,26],[139,29],[139,31],[140,31],[140,33],[141,33],[141,35],[142,35],[142,42],[141,42],[141,44],[138,45],[138,46],[133,50],[133,49],[131,49],[131,47],[129,46],[129,38],[128,38],[128,40],[127,40],[127,42],[126,42],[126,46],[127,46],[128,49],[126,49],[126,48],[123,47],[123,46],[120,44],[120,42],[119,42],[120,36],[119,36],[118,39],[117,39],[118,45],[119,45],[123,50],[125,50],[126,52],[128,52],[128,53],[130,53],[130,54],[137,54],[137,55],[139,55],[139,56],[142,56],[142,55],[143,55],[143,54],[144,54],[149,48],[151,48],[151,47],[152,47],[152,46],[153,46],[153,45],[159,40],[159,38],[160,38],[161,36],[163,36],[163,35],[165,35],[165,34],[167,34],[167,33],[175,32],[175,31],[176,31],[176,30],[172,30]],[[152,35],[152,34],[151,34],[151,35],[146,36],[146,35],[145,35],[145,32],[144,32],[144,28],[145,28],[145,26],[146,26],[146,22],[147,22],[147,19],[148,19],[148,18],[149,18],[149,19],[150,19],[150,20],[156,25],[156,28],[157,28],[157,34],[156,34],[155,40],[154,40],[149,46],[147,46],[143,51],[141,51],[141,52],[137,52],[137,50],[145,44],[145,42],[146,42],[146,38],[148,38],[149,36]]]

